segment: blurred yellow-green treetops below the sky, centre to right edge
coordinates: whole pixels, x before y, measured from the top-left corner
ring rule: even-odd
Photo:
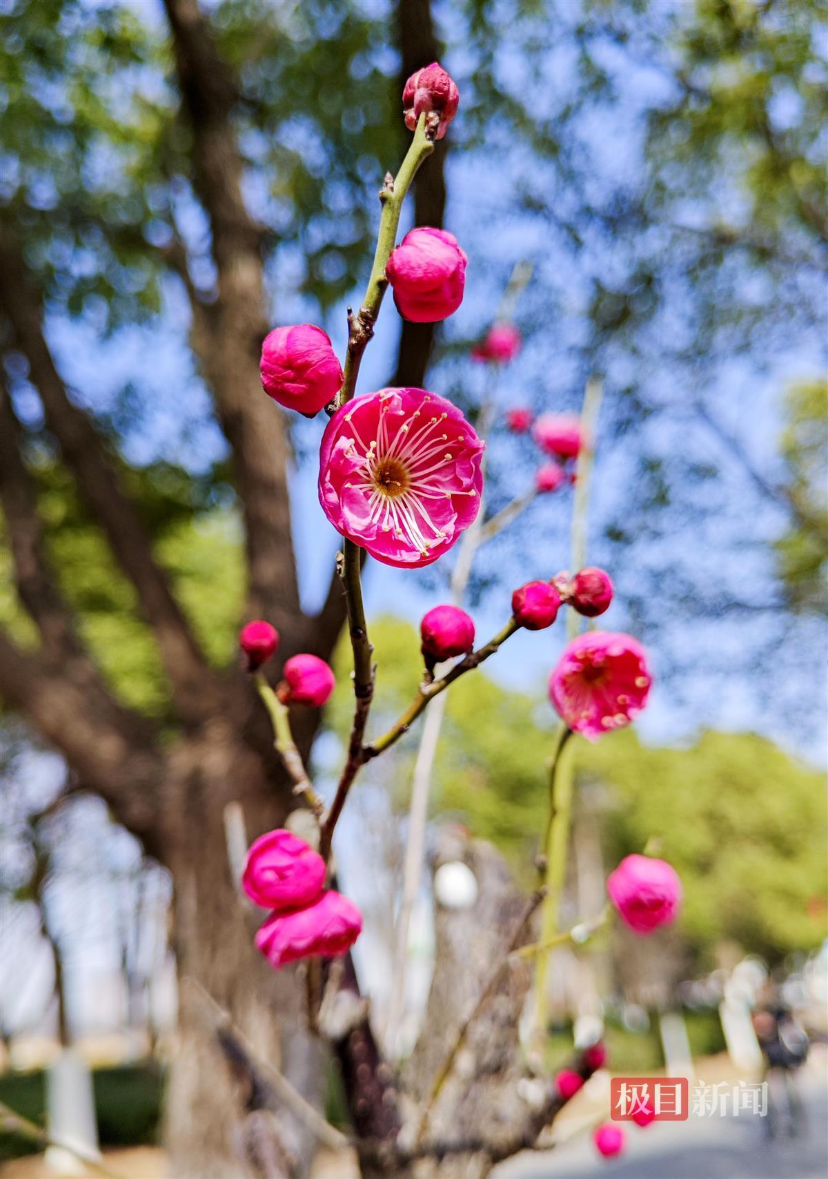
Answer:
[[[416,691],[418,641],[390,618],[377,620],[371,637],[380,666],[373,723],[382,730]],[[350,704],[342,648],[340,657],[331,720],[344,737]],[[556,722],[545,702],[504,690],[485,672],[463,677],[449,692],[435,809],[492,839],[526,882],[545,823],[545,758]],[[408,802],[417,733],[400,742],[391,768],[383,758],[366,769],[398,806]],[[754,733],[708,731],[685,749],[658,749],[628,729],[595,745],[578,739],[575,757],[579,805],[601,824],[607,871],[657,841],[657,854],[684,884],[681,930],[691,950],[709,957],[728,938],[774,960],[819,946],[828,835],[821,773]]]

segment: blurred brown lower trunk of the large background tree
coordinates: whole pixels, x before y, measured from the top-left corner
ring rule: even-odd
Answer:
[[[263,914],[241,901],[227,859],[223,812],[238,801],[249,839],[285,818],[285,792],[224,725],[184,744],[165,791],[174,811],[165,862],[174,883],[179,1020],[165,1111],[171,1171],[180,1179],[300,1174],[312,1153],[287,1111],[263,1112],[256,1081],[221,1048],[199,987],[310,1101],[324,1091],[322,1046],[305,1030],[298,969],[273,970],[253,934]],[[287,796],[290,798],[290,796]],[[289,804],[290,805],[290,802]],[[197,983],[198,986],[194,986]]]

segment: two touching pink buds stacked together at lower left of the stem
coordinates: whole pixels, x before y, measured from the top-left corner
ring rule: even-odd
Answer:
[[[325,889],[325,861],[291,831],[267,831],[251,844],[241,875],[247,896],[271,914],[256,947],[277,970],[305,957],[338,957],[363,928],[359,909]]]

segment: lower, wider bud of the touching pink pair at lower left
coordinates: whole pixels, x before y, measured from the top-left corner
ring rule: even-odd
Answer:
[[[363,916],[331,889],[302,909],[274,913],[256,934],[256,948],[277,970],[304,957],[339,957],[362,933]]]

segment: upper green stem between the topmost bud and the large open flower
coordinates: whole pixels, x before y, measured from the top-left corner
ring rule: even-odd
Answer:
[[[425,116],[420,114],[411,146],[399,166],[399,171],[393,178],[390,173],[385,177],[385,184],[379,193],[379,199],[383,203],[383,212],[379,218],[377,249],[375,250],[371,276],[367,281],[362,305],[356,315],[349,314],[347,356],[345,357],[343,386],[337,397],[337,406],[344,406],[356,391],[363,353],[373,335],[373,325],[377,322],[383,295],[389,284],[385,277],[385,266],[397,242],[397,229],[399,228],[399,215],[403,209],[403,202],[411,187],[411,182],[417,173],[417,169],[433,150],[435,145],[426,129]]]

